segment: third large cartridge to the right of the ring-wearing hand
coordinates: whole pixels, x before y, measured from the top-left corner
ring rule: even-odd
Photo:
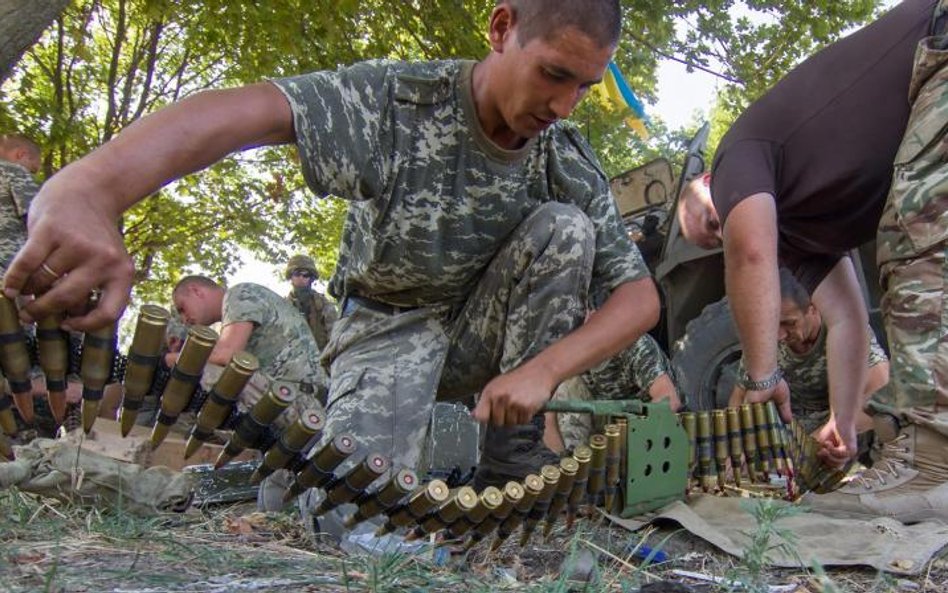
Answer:
[[[258,368],[260,368],[260,362],[249,352],[240,351],[231,357],[214,387],[207,394],[201,411],[198,412],[185,446],[185,459],[191,457],[201,444],[207,442],[214,431],[227,420],[234,402],[237,401],[240,392]]]

